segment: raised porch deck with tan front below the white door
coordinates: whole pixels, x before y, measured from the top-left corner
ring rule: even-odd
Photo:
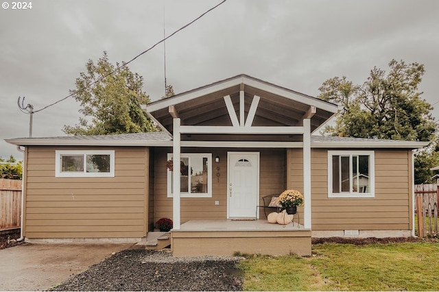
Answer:
[[[311,230],[294,222],[286,226],[267,220],[191,220],[171,230],[174,256],[246,254],[311,255]]]

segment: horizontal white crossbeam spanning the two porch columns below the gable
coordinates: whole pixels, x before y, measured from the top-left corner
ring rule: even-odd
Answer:
[[[302,126],[291,127],[233,127],[182,125],[181,134],[303,134]]]

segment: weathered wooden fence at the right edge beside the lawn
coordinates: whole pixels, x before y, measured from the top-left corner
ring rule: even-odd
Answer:
[[[438,235],[438,184],[416,184],[415,212],[418,216],[418,236]]]

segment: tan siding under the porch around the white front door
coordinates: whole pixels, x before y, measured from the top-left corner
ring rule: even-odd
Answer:
[[[171,151],[171,148],[157,148],[155,152],[154,221],[161,217],[172,218],[172,198],[167,197],[166,170],[167,153]],[[215,156],[219,156],[219,163],[213,162],[212,166],[212,197],[181,198],[182,223],[190,219],[225,219],[227,217],[228,151],[255,151],[255,149],[182,149],[182,153],[212,153],[213,160]],[[285,150],[258,149],[257,151],[260,152],[259,196],[280,193],[285,189]],[[219,205],[215,205],[215,201],[219,201]],[[262,209],[260,214],[261,217],[265,216]]]

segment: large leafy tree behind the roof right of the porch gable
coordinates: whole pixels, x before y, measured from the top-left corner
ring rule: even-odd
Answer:
[[[389,67],[386,73],[375,66],[362,85],[355,85],[346,77],[325,81],[318,97],[340,104],[343,110],[337,115],[335,125],[325,127],[322,134],[432,141],[415,158],[415,180],[425,182],[431,173],[429,168],[438,165],[439,155],[436,154],[437,126],[430,113],[433,107],[418,91],[424,65],[392,60]]]

